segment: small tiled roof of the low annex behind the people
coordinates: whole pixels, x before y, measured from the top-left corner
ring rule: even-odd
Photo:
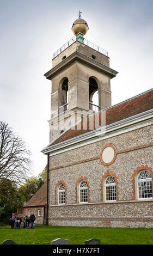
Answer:
[[[23,207],[45,206],[47,204],[47,182],[28,200]]]

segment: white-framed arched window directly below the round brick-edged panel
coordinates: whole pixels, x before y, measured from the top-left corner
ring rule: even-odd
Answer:
[[[115,178],[108,176],[105,180],[105,200],[114,201],[117,198]]]

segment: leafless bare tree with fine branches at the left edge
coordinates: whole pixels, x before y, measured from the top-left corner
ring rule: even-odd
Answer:
[[[30,151],[7,123],[0,121],[0,180],[21,184],[30,168]],[[2,185],[2,184],[1,184]]]

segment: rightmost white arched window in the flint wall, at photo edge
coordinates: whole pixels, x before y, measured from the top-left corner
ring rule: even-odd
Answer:
[[[149,170],[142,170],[137,175],[138,199],[152,199],[152,178]]]

